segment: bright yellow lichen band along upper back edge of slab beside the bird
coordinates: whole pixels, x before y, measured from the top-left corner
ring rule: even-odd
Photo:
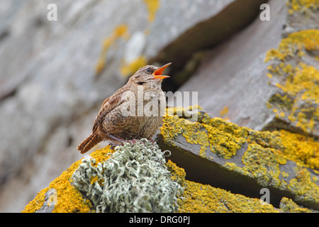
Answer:
[[[313,138],[288,131],[254,131],[221,118],[209,118],[207,114],[200,116],[201,122],[190,122],[177,116],[179,111],[181,108],[171,109],[169,112],[174,113],[174,116],[167,114],[163,119],[160,133],[167,143],[174,145],[174,139],[183,135],[187,143],[201,145],[202,157],[208,156],[206,150],[210,148],[211,152],[225,159],[233,157],[243,143],[250,143],[250,148],[260,145],[261,149],[271,149],[275,155],[280,153],[285,158],[302,162],[306,167],[319,167],[319,143]],[[278,163],[282,162],[280,155],[276,160]],[[267,160],[267,157],[261,157],[259,160]]]

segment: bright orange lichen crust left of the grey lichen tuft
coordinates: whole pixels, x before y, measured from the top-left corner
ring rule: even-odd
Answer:
[[[102,148],[101,150],[96,150],[91,153],[91,157],[96,159],[96,162],[101,162],[103,160],[107,160],[109,155],[108,153],[113,153],[114,151],[107,146],[106,148]],[[82,160],[78,160],[74,162],[65,172],[62,172],[60,177],[57,177],[53,180],[49,187],[41,190],[35,199],[30,201],[30,203],[25,207],[22,211],[23,213],[34,213],[38,211],[45,201],[45,193],[49,189],[56,190],[56,198],[55,198],[55,207],[52,212],[55,213],[86,213],[91,211],[91,204],[88,199],[83,199],[82,194],[75,189],[70,183],[70,179],[72,174],[79,165],[82,163]]]

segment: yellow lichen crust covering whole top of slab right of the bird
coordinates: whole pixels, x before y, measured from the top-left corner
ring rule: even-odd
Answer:
[[[317,179],[308,177],[307,170],[312,168],[315,174],[319,173],[316,171],[319,170],[319,143],[313,138],[287,131],[254,131],[221,118],[210,118],[202,111],[197,112],[198,121],[191,122],[180,117],[181,114],[178,116],[180,112],[177,108],[164,116],[160,135],[167,145],[176,146],[174,140],[181,135],[187,143],[201,145],[201,157],[212,160],[211,153],[216,153],[225,159],[223,167],[252,177],[263,187],[289,189],[294,194],[303,194],[303,199],[319,202]],[[242,155],[244,166],[239,167],[231,158],[244,144],[247,144]],[[286,165],[287,160],[296,162],[306,177],[287,181],[288,173],[281,171],[281,165]],[[295,175],[300,171],[296,169]]]

